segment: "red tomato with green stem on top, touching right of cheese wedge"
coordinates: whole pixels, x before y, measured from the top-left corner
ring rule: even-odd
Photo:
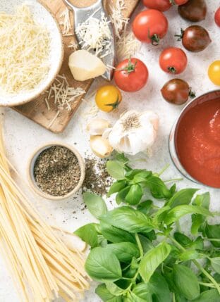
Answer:
[[[125,92],[137,92],[145,86],[147,79],[147,66],[138,58],[122,61],[114,72],[116,85]]]

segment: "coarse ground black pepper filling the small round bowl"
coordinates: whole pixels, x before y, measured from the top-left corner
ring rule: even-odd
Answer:
[[[65,196],[80,180],[80,165],[75,154],[63,146],[51,146],[39,154],[34,176],[39,189],[52,196]]]

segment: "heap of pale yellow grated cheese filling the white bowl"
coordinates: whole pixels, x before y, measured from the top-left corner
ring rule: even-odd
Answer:
[[[0,13],[0,89],[17,94],[34,89],[49,72],[49,32],[22,5]]]

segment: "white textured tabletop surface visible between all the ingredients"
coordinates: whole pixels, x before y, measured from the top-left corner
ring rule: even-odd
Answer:
[[[209,7],[207,19],[202,22],[201,25],[209,30],[210,36],[212,37],[212,44],[207,50],[200,54],[191,54],[187,52],[188,68],[185,73],[180,75],[181,78],[187,80],[193,89],[195,89],[197,96],[217,88],[207,77],[207,67],[212,61],[219,59],[220,29],[214,25],[214,11],[218,7],[219,1],[209,0],[207,1],[207,4]],[[139,9],[142,9],[142,7],[140,6]],[[138,58],[141,58],[149,68],[149,82],[147,83],[147,86],[140,92],[123,94],[123,103],[117,113],[111,113],[109,115],[102,113],[101,115],[106,118],[111,118],[111,120],[115,120],[118,118],[119,113],[123,112],[126,108],[138,108],[140,111],[152,109],[157,112],[160,118],[159,135],[152,151],[152,157],[147,158],[145,156],[145,168],[159,171],[166,163],[170,163],[171,168],[164,173],[164,179],[170,179],[173,177],[181,177],[176,168],[173,167],[169,157],[168,136],[171,125],[173,125],[174,120],[178,117],[182,107],[172,106],[161,98],[159,90],[171,76],[166,75],[160,70],[158,56],[161,49],[165,46],[181,46],[181,42],[176,42],[173,35],[180,32],[181,27],[184,29],[190,25],[190,23],[185,22],[178,16],[176,8],[172,8],[166,15],[169,18],[170,23],[169,34],[165,37],[161,46],[142,45],[140,54],[137,54]],[[97,84],[100,84],[100,81],[97,81]],[[89,150],[89,146],[88,136],[85,133],[85,116],[83,116],[83,114],[89,110],[90,106],[82,103],[79,111],[75,114],[75,117],[66,131],[59,135],[51,134],[11,109],[6,110],[5,139],[8,157],[18,169],[20,175],[22,175],[23,180],[27,180],[27,159],[37,146],[46,143],[47,141],[59,140],[66,141],[68,144],[77,143],[76,148],[78,148],[82,153],[82,156],[84,156],[85,151]],[[181,187],[201,186],[195,185],[188,180],[184,180],[178,182],[178,189]],[[26,189],[26,191],[30,196],[31,201],[38,210],[42,212],[42,215],[44,215],[46,219],[49,221],[55,220],[54,223],[69,231],[73,231],[80,225],[84,225],[93,219],[87,210],[82,211],[82,200],[78,196],[76,199],[72,198],[64,202],[52,202],[40,199],[38,196],[33,196],[29,189]],[[210,191],[212,194],[212,209],[220,210],[220,191],[214,189]],[[45,210],[45,208],[47,208],[47,210]],[[76,213],[73,213],[75,211]],[[1,264],[0,259],[0,302],[11,301],[17,302],[18,298],[16,297],[11,278],[8,277],[8,272],[6,271],[4,264]],[[100,301],[94,294],[94,288],[86,294],[86,298],[82,302],[86,301]]]

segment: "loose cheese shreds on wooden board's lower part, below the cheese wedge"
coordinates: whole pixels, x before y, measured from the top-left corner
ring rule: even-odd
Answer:
[[[47,104],[47,109],[50,110],[49,99],[53,99],[54,104],[57,106],[59,111],[68,110],[71,111],[71,103],[76,99],[85,94],[85,90],[77,87],[70,87],[65,75],[58,75],[56,80],[51,85],[47,97],[44,99]]]

